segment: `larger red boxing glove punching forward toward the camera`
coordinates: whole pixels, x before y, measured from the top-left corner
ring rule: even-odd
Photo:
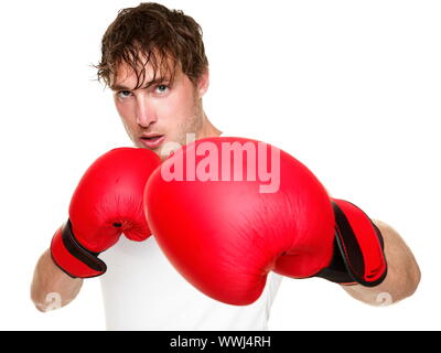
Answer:
[[[347,229],[336,225],[334,205],[346,206],[297,159],[243,138],[184,146],[144,190],[150,227],[178,271],[208,297],[238,306],[259,298],[270,270],[356,281],[343,270],[355,255],[343,256],[340,246],[347,250],[357,237],[336,240]]]

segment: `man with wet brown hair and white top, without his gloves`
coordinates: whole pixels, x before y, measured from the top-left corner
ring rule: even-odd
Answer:
[[[170,146],[185,145],[189,135],[195,139],[222,135],[203,108],[209,79],[201,32],[198,24],[181,11],[141,3],[120,11],[103,38],[98,77],[112,89],[135,146],[162,159]],[[378,303],[384,293],[389,302],[397,302],[416,290],[419,267],[397,232],[384,222],[375,224],[384,239],[388,266],[385,280],[370,288],[342,288],[369,304]],[[166,260],[154,237],[142,243],[121,238],[100,258],[108,266],[101,287],[109,330],[265,330],[281,280],[270,272],[257,301],[229,306],[189,285]],[[47,250],[35,268],[32,300],[45,311],[46,296],[55,292],[65,306],[75,299],[82,285],[83,279],[61,270]]]

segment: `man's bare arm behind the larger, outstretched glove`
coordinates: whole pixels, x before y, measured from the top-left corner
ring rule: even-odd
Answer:
[[[399,234],[388,224],[374,221],[385,244],[387,276],[376,287],[342,286],[353,298],[372,306],[385,306],[410,297],[420,282],[421,274],[413,254]]]

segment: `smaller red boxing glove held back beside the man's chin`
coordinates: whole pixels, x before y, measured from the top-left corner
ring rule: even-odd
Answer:
[[[151,235],[142,192],[160,163],[150,150],[118,148],[87,169],[72,196],[67,223],[52,238],[52,259],[63,271],[74,278],[100,276],[107,267],[98,255],[122,233],[137,242]]]

